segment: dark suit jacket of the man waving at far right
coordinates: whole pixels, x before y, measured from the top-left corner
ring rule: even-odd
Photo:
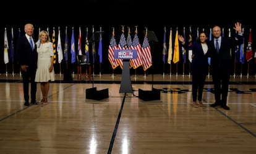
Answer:
[[[237,39],[236,39],[237,38]],[[210,41],[209,49],[210,49],[210,57],[211,57],[211,68],[213,70],[221,70],[231,71],[233,68],[233,59],[232,52],[234,52],[234,47],[243,43],[243,36],[237,35],[236,38],[221,38],[221,46],[219,50],[219,54],[215,49],[214,39]]]

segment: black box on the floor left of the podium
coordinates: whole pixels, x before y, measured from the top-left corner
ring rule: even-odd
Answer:
[[[85,90],[86,99],[102,100],[109,97],[108,88],[97,91],[96,87],[92,87]]]

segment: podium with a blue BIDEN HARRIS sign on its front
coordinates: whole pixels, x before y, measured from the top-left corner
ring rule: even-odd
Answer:
[[[130,59],[137,59],[137,50],[116,49],[114,50],[114,59],[122,59],[122,79],[119,93],[134,93],[130,81]]]

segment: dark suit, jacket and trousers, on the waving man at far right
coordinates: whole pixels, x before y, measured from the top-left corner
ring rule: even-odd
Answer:
[[[233,47],[243,43],[243,36],[237,35],[235,38],[221,38],[219,53],[215,49],[214,39],[210,41],[209,50],[211,57],[211,73],[215,89],[215,100],[220,105],[226,105],[228,97],[228,85],[233,60],[231,52]]]

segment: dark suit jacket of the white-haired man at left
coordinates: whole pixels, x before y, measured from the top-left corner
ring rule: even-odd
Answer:
[[[28,65],[28,67],[37,67],[37,59],[38,54],[36,52],[36,45],[34,50],[32,50],[28,39],[26,36],[21,36],[17,39],[16,43],[16,53],[17,53],[17,60],[19,65]]]

